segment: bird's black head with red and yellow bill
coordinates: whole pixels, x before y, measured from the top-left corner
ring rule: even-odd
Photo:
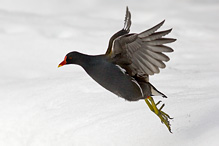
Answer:
[[[78,58],[79,58],[78,52],[76,51],[70,52],[65,56],[64,60],[58,65],[58,67],[61,67],[66,64],[77,64]]]

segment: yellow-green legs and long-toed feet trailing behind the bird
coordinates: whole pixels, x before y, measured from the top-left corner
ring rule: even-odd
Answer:
[[[162,104],[162,106],[158,109],[157,105],[160,104],[161,101],[158,101],[155,104],[154,99],[151,96],[147,97],[145,99],[145,102],[147,103],[150,110],[160,118],[161,122],[164,123],[167,126],[168,130],[171,132],[169,119],[173,119],[173,118],[171,118],[167,113],[162,111],[164,104]]]

